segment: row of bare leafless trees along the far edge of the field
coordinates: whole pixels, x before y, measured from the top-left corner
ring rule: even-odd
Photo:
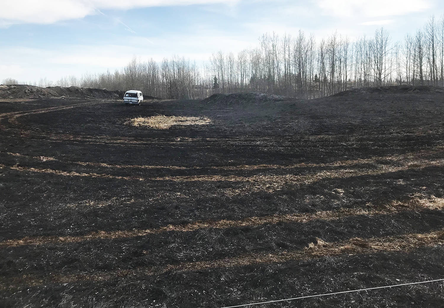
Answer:
[[[213,93],[262,91],[296,98],[317,98],[355,87],[383,85],[444,86],[444,17],[431,16],[424,28],[392,41],[384,28],[373,37],[351,41],[338,33],[316,41],[313,35],[264,34],[260,45],[214,53],[197,65],[173,57],[157,63],[133,57],[121,70],[62,78],[67,87],[140,89],[169,98],[204,98]],[[42,86],[48,86],[46,80]],[[39,84],[40,85],[40,84]]]

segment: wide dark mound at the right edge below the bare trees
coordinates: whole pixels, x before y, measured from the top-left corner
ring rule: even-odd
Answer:
[[[338,92],[331,96],[345,96],[356,94],[374,94],[374,93],[444,93],[444,88],[433,86],[387,86],[387,87],[368,87],[359,89],[350,89]]]

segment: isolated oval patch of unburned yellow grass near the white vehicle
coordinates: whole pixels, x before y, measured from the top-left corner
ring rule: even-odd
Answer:
[[[155,115],[152,117],[139,117],[129,119],[125,124],[132,126],[148,126],[159,130],[167,130],[174,125],[206,125],[211,120],[207,117],[176,117],[166,115]]]

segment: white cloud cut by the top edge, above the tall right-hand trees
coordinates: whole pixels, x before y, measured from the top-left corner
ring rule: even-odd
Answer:
[[[402,16],[430,8],[429,0],[314,0],[325,15],[337,17]]]

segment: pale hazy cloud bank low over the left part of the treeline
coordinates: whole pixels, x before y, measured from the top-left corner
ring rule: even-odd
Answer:
[[[168,37],[126,36],[112,44],[63,44],[53,48],[30,48],[0,46],[0,80],[12,77],[20,81],[39,80],[47,77],[57,80],[62,76],[83,73],[99,73],[107,69],[121,69],[133,55],[141,61],[154,59],[161,62],[176,54],[196,63],[208,61],[218,50],[235,54],[251,43],[242,36],[223,35],[213,31],[200,31],[188,35],[175,34]],[[127,44],[124,44],[126,42]]]

